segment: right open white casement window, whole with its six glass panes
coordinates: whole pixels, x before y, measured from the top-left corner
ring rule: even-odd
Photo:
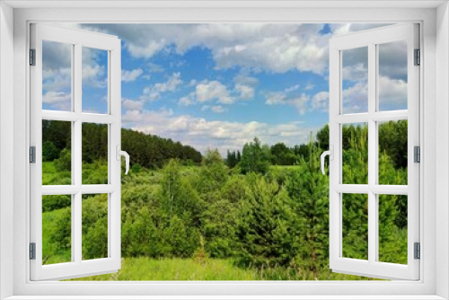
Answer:
[[[419,277],[419,260],[414,257],[415,243],[419,243],[419,164],[414,162],[414,146],[419,146],[418,47],[418,25],[414,24],[330,40],[330,268],[334,271],[378,278]],[[394,50],[385,56],[388,48]],[[358,59],[352,69],[345,65],[349,59]],[[388,86],[394,80],[401,81],[406,90],[405,101],[396,99]],[[366,88],[350,106],[345,98],[348,90],[343,92],[346,81],[357,83],[353,90]],[[393,135],[406,136],[402,147],[383,143],[393,125],[397,128]],[[355,135],[357,131],[362,135]],[[394,178],[384,171],[400,164],[386,158],[392,148],[407,170]],[[392,206],[393,202],[401,205]],[[407,237],[404,242],[398,238],[396,249],[388,250],[383,246],[392,233],[385,232],[388,225],[384,221],[400,207],[407,211]],[[345,239],[351,235],[359,239],[348,245]],[[407,261],[395,255],[401,251],[407,253]]]

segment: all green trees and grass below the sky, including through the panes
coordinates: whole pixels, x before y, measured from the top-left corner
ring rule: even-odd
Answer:
[[[42,181],[70,184],[70,123],[43,121]],[[367,183],[367,126],[343,128],[343,183]],[[107,183],[108,128],[83,124],[83,183]],[[369,280],[329,269],[329,127],[222,157],[122,129],[119,273],[83,280]],[[379,125],[379,183],[407,184],[407,120]],[[122,168],[124,170],[124,168]],[[367,195],[344,194],[343,256],[367,259]],[[83,259],[107,257],[107,195],[83,195]],[[43,261],[70,261],[71,198],[43,196]],[[407,264],[407,196],[379,195],[379,260]]]

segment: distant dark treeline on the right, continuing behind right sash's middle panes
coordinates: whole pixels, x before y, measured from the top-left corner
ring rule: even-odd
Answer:
[[[351,139],[362,137],[362,131],[367,130],[367,126],[345,125],[343,131],[343,150],[348,150],[351,146]],[[379,149],[385,152],[392,159],[392,163],[397,168],[407,167],[407,146],[408,127],[407,120],[382,122],[379,125]],[[365,138],[367,143],[367,137]],[[313,142],[321,151],[329,149],[329,125],[321,128]],[[277,143],[273,146],[260,145],[260,140],[254,140],[243,146],[242,152],[256,151],[254,159],[262,159],[265,164],[271,165],[295,165],[300,163],[301,158],[309,160],[310,149],[308,144],[286,146],[284,143]],[[226,164],[233,168],[242,161],[240,151],[228,151]],[[260,163],[262,164],[262,163]],[[261,166],[261,165],[260,165]],[[266,167],[261,166],[263,169]]]

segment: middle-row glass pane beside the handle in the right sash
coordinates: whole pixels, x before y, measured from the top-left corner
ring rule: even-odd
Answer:
[[[342,126],[343,184],[368,183],[368,124]]]

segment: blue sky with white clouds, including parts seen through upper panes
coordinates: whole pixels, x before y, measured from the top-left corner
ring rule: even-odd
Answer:
[[[307,142],[329,122],[329,39],[385,24],[66,24],[121,40],[122,127],[201,152]],[[407,109],[405,41],[379,46],[379,109]],[[70,45],[43,43],[44,110],[71,110]],[[83,49],[83,111],[107,113],[108,53]],[[367,52],[343,52],[343,113],[367,109]]]

